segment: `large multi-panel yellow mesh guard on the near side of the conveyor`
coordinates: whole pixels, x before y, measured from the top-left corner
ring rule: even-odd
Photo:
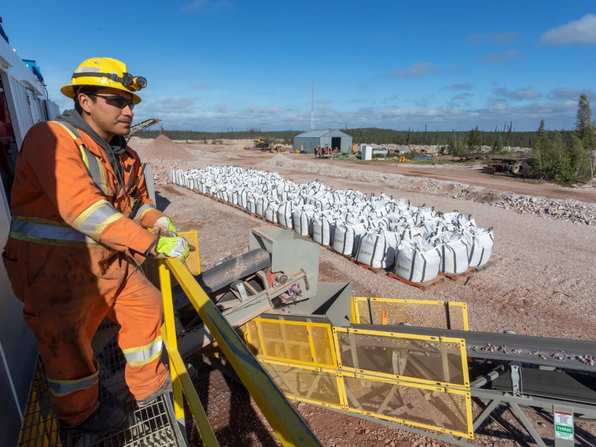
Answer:
[[[288,398],[473,439],[462,339],[265,318],[239,332]]]

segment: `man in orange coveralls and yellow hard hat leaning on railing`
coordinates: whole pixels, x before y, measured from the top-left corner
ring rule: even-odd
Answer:
[[[172,389],[160,359],[162,296],[138,266],[145,257],[184,260],[189,246],[148,198],[139,156],[123,138],[146,85],[121,61],[83,61],[61,89],[75,110],[33,126],[18,154],[2,258],[35,333],[54,413],[73,432],[110,432],[126,419],[97,401],[91,339],[105,316],[120,324],[138,406]]]

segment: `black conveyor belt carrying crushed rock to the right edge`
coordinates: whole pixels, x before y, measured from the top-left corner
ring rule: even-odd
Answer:
[[[352,328],[461,338],[469,357],[596,372],[595,342],[402,325],[355,324]]]

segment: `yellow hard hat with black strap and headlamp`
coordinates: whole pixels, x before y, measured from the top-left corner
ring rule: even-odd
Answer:
[[[126,69],[126,64],[111,57],[92,57],[80,63],[73,73],[69,85],[60,89],[63,95],[75,98],[75,87],[82,85],[95,85],[98,87],[111,87],[129,92],[135,104],[141,98],[135,91],[147,86],[147,79],[142,76],[132,76]]]

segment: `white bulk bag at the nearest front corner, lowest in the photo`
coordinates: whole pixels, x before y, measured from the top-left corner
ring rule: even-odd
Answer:
[[[412,283],[424,283],[439,275],[440,261],[439,250],[419,237],[412,241],[401,241],[393,271]]]

